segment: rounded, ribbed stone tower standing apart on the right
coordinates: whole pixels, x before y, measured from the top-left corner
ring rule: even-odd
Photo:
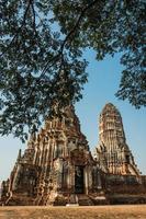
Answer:
[[[121,114],[112,103],[105,104],[100,114],[99,141],[97,157],[102,170],[108,169],[113,174],[139,174],[126,143]]]

